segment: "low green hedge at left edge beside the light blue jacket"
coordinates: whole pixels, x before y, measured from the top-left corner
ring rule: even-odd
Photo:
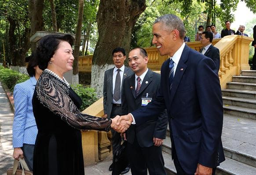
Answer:
[[[0,81],[13,91],[15,84],[22,83],[29,79],[28,75],[0,66]]]

